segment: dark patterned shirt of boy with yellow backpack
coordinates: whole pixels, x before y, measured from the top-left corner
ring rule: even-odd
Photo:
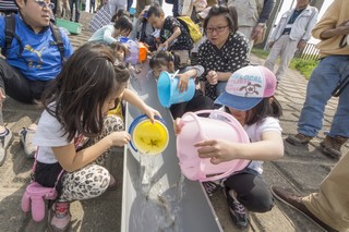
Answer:
[[[179,26],[181,35],[179,35],[170,46],[169,50],[191,50],[193,48],[193,41],[185,27],[173,16],[167,16],[165,19],[164,27],[160,30],[160,41],[165,42],[172,34],[174,27]]]

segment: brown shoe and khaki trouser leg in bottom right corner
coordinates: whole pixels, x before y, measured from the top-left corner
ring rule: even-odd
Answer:
[[[301,197],[279,186],[273,195],[302,212],[326,231],[349,230],[349,152],[344,156],[320,185],[317,193]]]

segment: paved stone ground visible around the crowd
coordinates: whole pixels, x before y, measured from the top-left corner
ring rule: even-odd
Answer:
[[[82,13],[83,30],[80,35],[71,35],[71,41],[76,48],[92,35],[87,29],[91,14]],[[251,54],[253,63],[263,64],[264,60]],[[278,86],[276,98],[284,108],[280,118],[282,137],[296,134],[300,110],[304,102],[306,88],[305,78],[297,71],[288,70]],[[330,127],[336,111],[337,99],[330,99],[325,110],[324,127],[309,145],[292,146],[285,142],[284,158],[264,163],[264,178],[269,185],[288,186],[301,195],[315,192],[318,184],[328,174],[336,160],[321,152],[320,143],[324,132]],[[20,145],[19,132],[28,126],[40,114],[37,106],[28,106],[7,98],[3,103],[4,122],[13,132],[14,139],[8,149],[7,160],[0,167],[0,231],[47,231],[47,220],[35,222],[31,213],[21,209],[21,199],[29,182],[33,159],[25,157]],[[342,147],[342,154],[349,151],[349,144]],[[123,158],[120,150],[115,150],[108,168],[117,178],[119,187],[108,191],[96,199],[74,202],[71,205],[72,225],[70,231],[120,231],[122,203],[122,168]],[[231,222],[222,194],[212,197],[214,208],[225,231],[240,231]],[[301,213],[276,202],[272,211],[265,213],[250,213],[251,227],[245,231],[322,231],[320,227],[304,218]],[[198,222],[200,223],[200,222]],[[147,232],[144,229],[144,232]]]

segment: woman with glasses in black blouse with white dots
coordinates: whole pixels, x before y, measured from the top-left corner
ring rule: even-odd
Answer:
[[[237,33],[238,15],[232,7],[213,7],[203,26],[207,40],[198,48],[197,63],[205,69],[201,76],[205,95],[215,100],[230,75],[250,63],[248,39]]]

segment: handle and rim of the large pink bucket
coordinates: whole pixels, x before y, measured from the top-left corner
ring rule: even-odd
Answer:
[[[217,114],[219,114],[219,115],[221,115],[221,117],[225,117],[226,119],[228,119],[229,121],[233,121],[233,122],[236,122],[234,124],[232,124],[233,126],[241,126],[241,129],[242,130],[244,130],[243,127],[242,127],[242,125],[240,124],[240,122],[236,119],[236,118],[233,118],[232,115],[230,115],[229,113],[226,113],[226,112],[222,112],[222,111],[218,111],[218,110],[200,110],[200,111],[196,111],[196,112],[186,112],[185,114],[189,114],[189,115],[191,115],[191,117],[193,117],[194,119],[195,119],[195,121],[196,121],[196,123],[197,123],[197,127],[198,127],[198,133],[200,133],[200,135],[201,135],[201,137],[203,137],[203,138],[206,138],[206,136],[204,135],[204,133],[203,133],[203,130],[202,130],[202,125],[201,125],[201,123],[200,123],[200,121],[198,121],[198,117],[197,117],[197,114],[203,114],[203,113],[217,113]],[[246,141],[249,141],[249,137],[248,136],[244,136],[243,137],[243,135],[239,135],[240,136],[240,141],[242,141],[243,138],[245,138]],[[239,161],[239,163],[241,163],[241,162],[243,162],[244,160],[240,160]],[[249,162],[250,163],[250,162]],[[200,170],[202,170],[203,169],[203,161],[202,161],[202,159],[200,159]],[[214,175],[214,176],[209,176],[209,178],[205,178],[204,180],[202,180],[202,181],[217,181],[217,180],[220,180],[220,179],[224,179],[224,178],[226,178],[227,176],[227,174],[231,174],[232,172],[233,172],[233,168],[234,167],[232,167],[229,171],[227,171],[227,172],[225,172],[225,173],[221,173],[221,174],[219,174],[219,175]],[[203,173],[198,173],[197,174],[197,176],[202,176],[202,174]]]

